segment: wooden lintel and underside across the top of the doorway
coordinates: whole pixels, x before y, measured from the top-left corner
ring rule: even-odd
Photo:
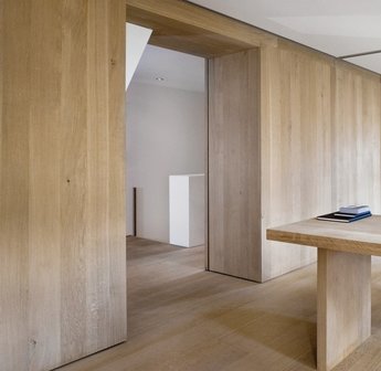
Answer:
[[[127,22],[154,30],[150,43],[203,57],[276,44],[277,39],[227,17],[178,0],[126,0]]]

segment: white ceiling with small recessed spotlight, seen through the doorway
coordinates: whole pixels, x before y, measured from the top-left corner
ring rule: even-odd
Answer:
[[[204,59],[147,45],[133,82],[203,92],[205,89],[204,74]],[[158,81],[157,77],[163,81]]]

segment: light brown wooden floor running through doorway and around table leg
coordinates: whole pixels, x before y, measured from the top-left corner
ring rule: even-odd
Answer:
[[[265,284],[203,271],[203,248],[128,247],[129,340],[60,371],[316,369],[316,265]],[[381,263],[372,337],[335,371],[381,370]]]

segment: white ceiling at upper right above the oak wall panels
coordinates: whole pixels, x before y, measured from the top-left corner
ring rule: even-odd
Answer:
[[[381,0],[191,0],[381,74]],[[377,52],[377,53],[374,53]]]

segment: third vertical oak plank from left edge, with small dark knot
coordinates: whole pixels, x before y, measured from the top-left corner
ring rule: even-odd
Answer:
[[[63,55],[62,68],[65,78],[62,81],[62,127],[61,144],[61,202],[65,205],[60,215],[61,224],[61,357],[62,363],[77,359],[88,351],[86,343],[87,299],[92,299],[93,282],[87,275],[86,263],[89,253],[89,237],[92,224],[89,218],[89,192],[95,184],[93,169],[87,168],[91,157],[87,156],[92,146],[87,99],[94,100],[97,94],[87,84],[91,84],[91,74],[87,71],[87,53],[93,30],[87,24],[89,17],[87,1],[68,1],[63,11]],[[74,22],[75,20],[75,22]],[[99,28],[103,24],[99,23]],[[88,30],[88,31],[87,31]],[[87,33],[88,32],[88,33]],[[102,40],[99,47],[102,49]],[[88,55],[89,57],[89,55]],[[93,66],[94,61],[88,67]],[[88,89],[88,93],[87,93]],[[73,95],[75,92],[75,95]],[[88,95],[87,95],[88,94]],[[102,99],[102,95],[99,96]],[[102,100],[100,100],[102,102]],[[95,145],[95,144],[94,144]],[[87,173],[88,172],[88,173]],[[106,227],[106,225],[104,226]],[[96,251],[97,235],[94,235],[92,248]],[[94,266],[94,269],[97,267]],[[88,297],[86,283],[88,280]],[[73,324],[75,324],[73,326]],[[96,325],[96,324],[94,324]],[[91,328],[88,328],[91,331]]]

